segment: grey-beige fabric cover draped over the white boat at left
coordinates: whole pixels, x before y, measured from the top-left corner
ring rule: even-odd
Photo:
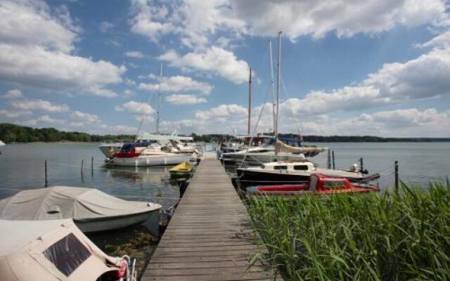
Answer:
[[[160,204],[121,200],[95,188],[53,186],[23,190],[0,201],[0,219],[89,221],[160,209]]]

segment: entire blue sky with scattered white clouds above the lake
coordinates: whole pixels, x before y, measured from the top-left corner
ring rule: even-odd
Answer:
[[[450,136],[442,0],[0,0],[0,122],[89,133],[272,129],[269,40],[283,30],[280,131]],[[150,103],[148,103],[150,100]],[[270,98],[268,100],[271,101]]]

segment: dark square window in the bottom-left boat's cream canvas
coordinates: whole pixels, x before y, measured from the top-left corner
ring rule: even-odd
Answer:
[[[91,252],[72,233],[48,247],[42,254],[65,276],[72,274],[91,256]]]

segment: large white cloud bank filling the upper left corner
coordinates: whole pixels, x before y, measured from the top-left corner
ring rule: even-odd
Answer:
[[[0,79],[49,91],[115,96],[125,67],[72,55],[81,32],[67,8],[40,0],[0,4]]]

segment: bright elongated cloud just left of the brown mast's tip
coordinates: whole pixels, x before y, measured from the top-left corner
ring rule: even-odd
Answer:
[[[170,50],[160,55],[159,59],[184,71],[197,70],[216,74],[235,84],[247,81],[250,72],[250,67],[245,60],[239,60],[233,52],[217,46],[207,48],[205,51],[186,53],[186,55],[179,55],[176,51]]]

